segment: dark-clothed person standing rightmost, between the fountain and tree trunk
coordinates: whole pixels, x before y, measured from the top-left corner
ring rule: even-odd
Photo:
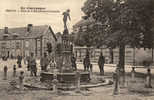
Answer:
[[[104,63],[105,63],[105,58],[101,52],[99,59],[98,59],[98,66],[100,70],[100,75],[104,75]]]

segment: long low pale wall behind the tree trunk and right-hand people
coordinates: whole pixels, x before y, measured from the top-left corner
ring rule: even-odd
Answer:
[[[91,48],[90,49],[90,60],[92,62],[97,63],[101,52],[103,52],[103,55],[105,56],[106,63],[109,63],[110,58],[111,58],[110,53],[109,53],[109,49]],[[134,52],[133,48],[126,48],[125,64],[133,65],[135,63],[136,65],[141,65],[141,62],[143,60],[147,60],[147,59],[151,60],[152,59],[151,52],[152,52],[151,50],[149,50],[149,49],[144,50],[143,48],[135,49],[135,52]],[[74,54],[77,58],[77,62],[82,62],[85,55],[86,55],[86,47],[74,47]],[[118,48],[113,49],[113,56],[114,56],[114,64],[117,64],[119,61]]]

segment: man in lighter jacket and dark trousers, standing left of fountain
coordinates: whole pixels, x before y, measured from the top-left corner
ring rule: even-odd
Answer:
[[[29,63],[30,63],[29,65],[30,65],[31,76],[37,76],[36,59],[34,57],[34,53],[31,53]]]

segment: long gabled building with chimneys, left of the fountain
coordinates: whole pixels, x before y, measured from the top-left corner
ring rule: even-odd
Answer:
[[[47,52],[47,43],[52,44],[52,49],[56,46],[57,38],[48,25],[0,29],[0,57],[23,57],[29,56],[31,52],[36,57]]]

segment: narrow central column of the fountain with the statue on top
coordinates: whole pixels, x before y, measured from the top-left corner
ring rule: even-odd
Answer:
[[[69,37],[69,31],[67,27],[67,19],[71,20],[70,15],[69,15],[70,10],[68,9],[66,12],[63,13],[63,22],[64,22],[64,31],[62,35],[62,68],[61,72],[73,72],[72,69],[72,62],[71,62],[71,57],[72,57],[72,45],[70,42],[70,37]]]

